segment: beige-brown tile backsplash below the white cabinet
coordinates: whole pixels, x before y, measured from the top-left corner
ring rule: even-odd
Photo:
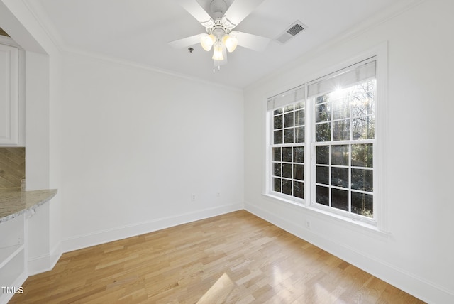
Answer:
[[[0,147],[0,189],[20,188],[26,176],[26,148]]]

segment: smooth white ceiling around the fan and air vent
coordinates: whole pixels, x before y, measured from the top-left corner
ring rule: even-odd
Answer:
[[[209,11],[211,0],[198,1]],[[230,5],[233,0],[226,0]],[[240,1],[240,0],[237,0]],[[246,0],[247,1],[247,0]],[[377,16],[403,0],[264,0],[236,29],[277,38],[294,21],[307,28],[288,43],[263,52],[238,47],[213,73],[211,52],[194,45],[175,50],[172,40],[204,33],[175,0],[26,0],[64,50],[118,58],[147,67],[243,88]]]

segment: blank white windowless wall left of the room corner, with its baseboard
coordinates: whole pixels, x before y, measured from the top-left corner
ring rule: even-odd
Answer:
[[[65,251],[243,208],[242,91],[63,62]]]

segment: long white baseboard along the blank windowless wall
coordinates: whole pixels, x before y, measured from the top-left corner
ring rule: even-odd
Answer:
[[[63,252],[69,252],[77,249],[87,248],[89,246],[96,246],[99,244],[108,243],[109,241],[117,241],[118,239],[135,237],[140,234],[155,232],[160,229],[194,222],[199,219],[215,217],[216,215],[223,215],[228,212],[237,210],[243,210],[243,203],[223,205],[220,207],[214,207],[205,210],[197,210],[195,212],[188,212],[182,215],[177,215],[175,217],[163,217],[160,219],[153,219],[149,222],[140,222],[123,227],[101,230],[89,234],[82,234],[77,237],[63,239],[62,250]]]

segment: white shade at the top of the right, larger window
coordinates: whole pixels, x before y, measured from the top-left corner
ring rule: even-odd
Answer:
[[[308,98],[320,96],[336,89],[342,89],[355,85],[358,82],[375,78],[376,60],[370,58],[343,70],[321,77],[309,82]]]

